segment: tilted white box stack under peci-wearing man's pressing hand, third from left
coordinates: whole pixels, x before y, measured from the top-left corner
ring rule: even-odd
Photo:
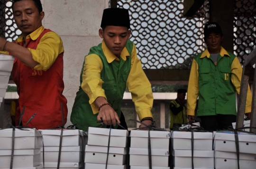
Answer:
[[[105,169],[110,134],[110,148],[107,169],[126,169],[127,130],[109,128],[88,129],[88,142],[85,147],[85,169]]]

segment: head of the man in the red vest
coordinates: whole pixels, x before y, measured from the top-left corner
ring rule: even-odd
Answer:
[[[45,13],[38,12],[33,0],[20,0],[13,6],[13,16],[18,29],[28,35],[42,26]]]

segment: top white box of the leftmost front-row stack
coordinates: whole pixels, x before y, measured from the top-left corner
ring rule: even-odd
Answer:
[[[37,149],[43,147],[40,131],[35,129],[15,129],[14,149]],[[0,130],[0,150],[11,150],[12,128]]]

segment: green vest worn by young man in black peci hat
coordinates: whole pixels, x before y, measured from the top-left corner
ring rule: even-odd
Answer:
[[[102,89],[105,90],[107,100],[112,105],[112,108],[117,112],[119,118],[121,115],[120,103],[123,100],[123,95],[126,89],[126,82],[131,68],[131,52],[133,49],[133,42],[128,40],[126,48],[130,57],[128,57],[126,60],[123,60],[121,57],[119,57],[119,61],[114,60],[111,63],[108,63],[104,52],[102,51],[101,43],[98,46],[92,47],[88,54],[96,54],[101,58],[103,64],[101,79],[104,82],[102,84]],[[82,65],[84,65],[84,62]],[[80,75],[79,91],[76,93],[71,113],[71,122],[79,129],[87,131],[88,127],[97,127],[100,125],[100,123],[97,123],[98,114],[93,114],[91,110],[88,95],[81,88],[82,74],[83,67]],[[116,125],[116,127],[118,127],[118,125]]]

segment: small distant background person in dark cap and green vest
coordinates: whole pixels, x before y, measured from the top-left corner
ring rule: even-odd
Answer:
[[[186,89],[179,89],[177,91],[177,99],[170,102],[169,108],[171,110],[170,129],[182,127],[187,123],[186,116]]]

